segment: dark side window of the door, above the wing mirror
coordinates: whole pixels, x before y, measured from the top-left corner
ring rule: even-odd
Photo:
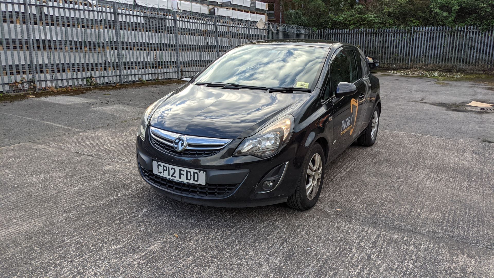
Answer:
[[[359,78],[354,51],[346,49],[336,54],[336,57],[334,57],[331,67],[329,68],[329,74],[332,94],[336,92],[338,83],[353,83],[357,81]]]

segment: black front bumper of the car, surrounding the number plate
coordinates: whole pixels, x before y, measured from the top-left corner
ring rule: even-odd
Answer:
[[[287,201],[288,196],[295,191],[307,147],[290,140],[278,154],[272,157],[264,159],[250,155],[233,157],[232,154],[241,141],[242,139],[235,139],[220,152],[211,156],[178,157],[157,149],[150,142],[149,136],[146,136],[145,140],[137,137],[136,155],[139,173],[157,191],[187,203],[216,207],[252,207]],[[198,188],[197,185],[157,178],[152,170],[153,160],[205,170],[206,185]],[[260,184],[265,176],[272,172],[271,170],[279,166],[285,169],[283,178],[274,189],[266,192]]]

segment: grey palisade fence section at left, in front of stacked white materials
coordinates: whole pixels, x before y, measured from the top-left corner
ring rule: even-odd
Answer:
[[[110,1],[0,0],[0,5],[0,85],[10,93],[183,78],[239,44],[310,33],[300,26],[256,26]]]

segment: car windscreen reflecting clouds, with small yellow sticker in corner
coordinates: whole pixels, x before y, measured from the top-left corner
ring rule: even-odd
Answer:
[[[207,67],[195,82],[314,89],[328,52],[329,48],[313,46],[238,46]]]

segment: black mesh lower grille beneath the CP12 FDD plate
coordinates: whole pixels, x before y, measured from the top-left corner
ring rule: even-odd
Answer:
[[[216,185],[206,183],[206,185],[188,185],[178,183],[155,175],[153,174],[153,171],[150,171],[141,165],[139,165],[139,167],[141,168],[144,178],[150,183],[177,193],[202,197],[222,197],[230,194],[237,187],[236,184]]]

